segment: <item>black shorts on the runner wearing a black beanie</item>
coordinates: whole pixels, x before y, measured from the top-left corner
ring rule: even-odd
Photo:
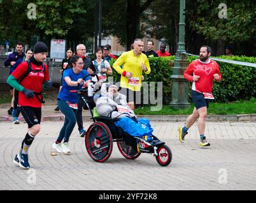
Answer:
[[[32,126],[35,126],[36,124],[40,124],[42,114],[41,107],[20,107],[20,112],[29,128],[32,128]]]

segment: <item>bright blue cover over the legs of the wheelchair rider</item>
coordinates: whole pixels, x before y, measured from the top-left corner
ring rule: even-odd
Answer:
[[[120,127],[125,133],[131,136],[148,136],[148,140],[151,140],[153,128],[150,125],[150,121],[146,118],[132,119],[131,117],[124,117],[115,122],[117,127]]]

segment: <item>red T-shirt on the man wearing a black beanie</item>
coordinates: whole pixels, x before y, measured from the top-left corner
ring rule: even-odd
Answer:
[[[26,89],[31,89],[35,93],[41,93],[43,89],[43,83],[45,81],[49,80],[49,74],[48,74],[48,67],[45,65],[45,71],[42,72],[30,72],[27,77],[25,77],[22,82],[20,83],[21,86],[23,86]],[[22,79],[22,76],[25,74],[25,72],[28,69],[27,62],[20,63],[18,67],[15,69],[15,71],[11,74],[13,77],[15,77],[17,80]],[[31,63],[31,69],[32,70],[43,70],[43,66],[35,65],[34,63]],[[41,95],[38,95],[39,99],[41,100]],[[24,93],[21,91],[18,93],[18,105],[20,106],[27,106],[27,107],[42,107],[41,102],[36,98],[34,95],[33,98],[27,98]]]

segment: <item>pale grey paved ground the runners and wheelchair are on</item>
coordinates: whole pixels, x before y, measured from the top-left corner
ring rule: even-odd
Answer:
[[[256,122],[207,122],[211,147],[198,146],[197,126],[178,141],[183,122],[152,122],[154,134],[173,152],[167,167],[142,154],[127,160],[114,144],[110,159],[97,163],[75,127],[71,155],[51,156],[62,122],[42,122],[29,150],[31,169],[14,166],[27,125],[0,122],[0,190],[255,190]],[[85,127],[90,123],[86,122]],[[145,181],[145,177],[147,181]]]

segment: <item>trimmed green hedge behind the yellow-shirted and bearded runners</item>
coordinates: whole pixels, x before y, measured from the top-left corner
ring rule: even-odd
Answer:
[[[256,63],[256,57],[247,56],[218,56],[228,60],[240,62]],[[197,59],[195,56],[188,56],[188,63]],[[162,82],[163,84],[163,103],[168,104],[171,101],[171,75],[173,74],[174,56],[150,58],[151,73],[145,76],[145,81]],[[111,66],[115,60],[111,61]],[[222,80],[214,82],[213,95],[215,101],[227,102],[236,100],[249,100],[256,97],[256,68],[245,67],[243,65],[234,65],[231,63],[217,62],[220,66]],[[113,69],[115,81],[120,81],[120,75]],[[191,88],[191,82],[190,82]]]

